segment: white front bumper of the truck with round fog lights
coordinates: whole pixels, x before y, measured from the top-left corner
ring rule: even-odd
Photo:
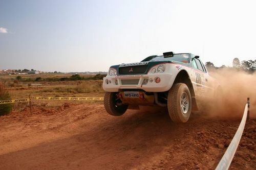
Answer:
[[[156,83],[156,78],[160,82]],[[145,83],[147,80],[147,83]],[[152,82],[150,80],[153,80]],[[142,89],[147,92],[168,91],[174,83],[172,74],[107,76],[103,78],[103,89],[118,92],[119,89]]]

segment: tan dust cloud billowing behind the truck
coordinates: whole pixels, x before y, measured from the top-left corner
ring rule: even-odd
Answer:
[[[219,81],[221,94],[206,108],[206,114],[212,117],[241,118],[247,98],[250,98],[250,117],[256,117],[256,72],[230,68],[211,71],[211,77]]]

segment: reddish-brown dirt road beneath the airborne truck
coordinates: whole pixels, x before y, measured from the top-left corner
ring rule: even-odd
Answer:
[[[214,169],[241,118],[193,115],[174,124],[155,108],[108,115],[103,105],[35,106],[0,117],[0,169]],[[255,121],[230,169],[254,169]]]

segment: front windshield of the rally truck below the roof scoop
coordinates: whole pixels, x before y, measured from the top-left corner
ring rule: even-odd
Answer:
[[[190,61],[190,55],[189,54],[174,54],[173,57],[166,57],[158,56],[152,58],[150,61],[179,61],[182,63],[189,63]]]

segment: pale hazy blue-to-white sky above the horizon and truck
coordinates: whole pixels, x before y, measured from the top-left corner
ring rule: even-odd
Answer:
[[[164,52],[255,60],[255,1],[0,0],[0,69],[108,71]]]

